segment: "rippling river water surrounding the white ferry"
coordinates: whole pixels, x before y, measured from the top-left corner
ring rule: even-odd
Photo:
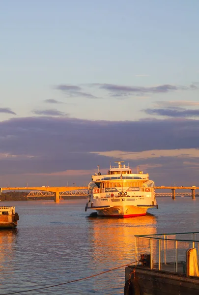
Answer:
[[[20,220],[17,229],[0,231],[0,295],[26,290],[22,294],[123,294],[125,267],[28,290],[130,264],[134,235],[199,231],[199,198],[157,202],[158,210],[126,219],[91,217],[86,200],[1,202],[15,206]]]

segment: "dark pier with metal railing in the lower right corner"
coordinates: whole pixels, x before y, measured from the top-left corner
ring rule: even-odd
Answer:
[[[199,294],[199,232],[135,238],[136,262],[125,268],[124,295]]]

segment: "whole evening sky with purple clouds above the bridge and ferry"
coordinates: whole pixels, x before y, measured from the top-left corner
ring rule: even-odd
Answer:
[[[0,186],[110,162],[199,186],[198,0],[1,0]]]

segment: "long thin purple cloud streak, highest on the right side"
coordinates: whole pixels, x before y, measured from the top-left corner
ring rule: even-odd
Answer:
[[[153,87],[143,87],[143,86],[123,86],[115,84],[92,84],[93,86],[99,87],[99,89],[104,89],[110,91],[113,96],[127,96],[127,95],[140,95],[144,93],[167,93],[176,90],[193,90],[198,89],[195,85],[185,86],[175,86],[170,84],[164,84]]]

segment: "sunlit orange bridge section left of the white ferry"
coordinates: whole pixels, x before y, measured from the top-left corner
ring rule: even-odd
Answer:
[[[40,191],[45,193],[53,193],[55,197],[55,202],[59,202],[61,195],[64,196],[62,193],[67,193],[70,191],[88,191],[87,186],[24,186],[24,187],[1,187],[0,191],[15,191],[15,190],[30,190],[30,191]],[[61,194],[60,194],[61,193]],[[85,194],[85,193],[84,193]],[[85,194],[87,195],[87,194]],[[40,195],[41,196],[41,195]],[[45,197],[46,195],[43,195]],[[49,196],[49,195],[48,195]],[[76,195],[80,196],[80,195]]]

